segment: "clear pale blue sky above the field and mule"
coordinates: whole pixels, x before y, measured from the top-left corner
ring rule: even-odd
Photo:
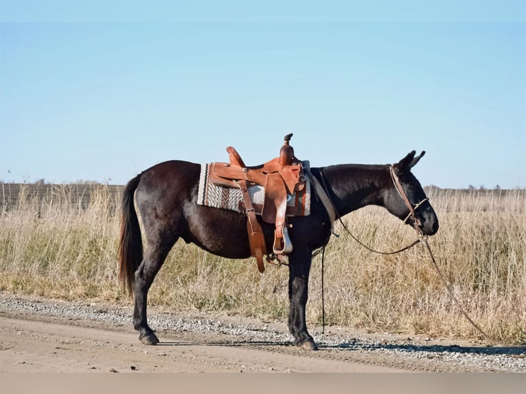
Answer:
[[[426,150],[423,185],[526,187],[514,13],[119,19],[0,4],[1,181],[124,184],[160,161],[225,161],[229,145],[255,165],[293,132],[313,166]]]

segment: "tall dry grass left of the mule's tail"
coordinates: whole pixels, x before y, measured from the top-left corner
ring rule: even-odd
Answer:
[[[119,196],[93,185],[86,208],[67,185],[45,195],[31,188],[23,185],[16,206],[0,212],[0,289],[66,299],[117,297]]]

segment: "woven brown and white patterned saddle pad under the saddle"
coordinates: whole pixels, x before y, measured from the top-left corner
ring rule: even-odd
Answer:
[[[197,204],[205,207],[229,209],[230,211],[244,212],[243,195],[237,187],[224,187],[214,185],[208,179],[209,164],[201,165]],[[261,214],[265,198],[265,189],[260,185],[249,187],[249,195],[254,205],[255,213]],[[310,215],[310,181],[307,179],[304,189],[295,192],[287,202],[287,216]]]

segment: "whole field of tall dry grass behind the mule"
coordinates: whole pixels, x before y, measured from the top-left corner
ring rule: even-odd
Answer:
[[[117,281],[122,187],[0,184],[0,290],[130,304]],[[427,188],[440,220],[429,243],[466,312],[509,344],[526,343],[526,191]],[[344,218],[373,248],[395,250],[415,232],[384,209]],[[339,224],[325,252],[327,323],[367,332],[479,338],[448,298],[424,246],[398,255],[367,251]],[[229,260],[178,242],[149,302],[286,321],[287,268],[258,273],[255,260]],[[321,257],[312,265],[308,325],[321,324]]]

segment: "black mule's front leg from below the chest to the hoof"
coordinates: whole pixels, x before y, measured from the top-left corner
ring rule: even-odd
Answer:
[[[314,339],[307,332],[305,308],[308,299],[308,277],[312,254],[310,251],[293,252],[289,256],[288,329],[294,336],[296,346],[316,350]]]

